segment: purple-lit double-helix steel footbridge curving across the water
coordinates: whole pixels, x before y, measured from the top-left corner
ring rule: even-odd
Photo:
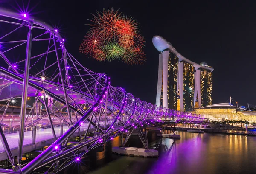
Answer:
[[[87,69],[67,51],[65,39],[57,28],[29,14],[0,8],[0,58],[0,101],[6,102],[0,139],[10,164],[0,169],[0,173],[29,174],[45,166],[49,166],[48,171],[58,173],[91,149],[125,132],[134,129],[140,132],[142,127],[178,119],[194,122],[204,119],[200,115],[157,107],[121,87],[111,86],[106,74]],[[35,101],[31,108],[27,107],[28,97]],[[10,140],[2,128],[6,110],[12,103],[21,106],[16,149],[10,148]],[[38,104],[44,106],[40,114]],[[26,115],[32,112],[35,114],[31,120]],[[26,128],[33,128],[46,118],[53,143],[23,163]],[[67,130],[57,134],[56,125],[61,124]],[[93,136],[88,136],[90,130],[95,132]],[[70,145],[69,139],[74,134],[78,135],[79,143]],[[84,147],[87,149],[81,150]]]

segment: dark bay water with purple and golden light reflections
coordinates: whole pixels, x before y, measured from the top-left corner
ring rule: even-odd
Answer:
[[[169,132],[168,130],[166,133]],[[151,148],[158,158],[119,156],[111,153],[120,146],[121,138],[93,150],[65,174],[256,174],[256,137],[211,133],[177,132],[180,140],[160,138],[148,132]],[[137,136],[131,136],[129,146],[142,147]]]

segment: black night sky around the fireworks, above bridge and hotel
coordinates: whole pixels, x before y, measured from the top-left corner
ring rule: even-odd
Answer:
[[[1,0],[1,6],[17,11],[21,0]],[[154,3],[151,3],[154,2]],[[152,44],[154,35],[163,36],[186,58],[207,62],[213,71],[213,104],[230,96],[241,105],[256,104],[256,3],[245,1],[142,1],[142,0],[31,0],[31,14],[58,26],[66,38],[68,51],[90,70],[107,73],[113,86],[155,103],[159,52]],[[252,1],[247,1],[252,2]],[[17,5],[18,4],[18,5]],[[27,6],[28,1],[24,0]],[[144,65],[96,62],[79,53],[88,31],[91,13],[115,8],[140,22],[146,38]]]

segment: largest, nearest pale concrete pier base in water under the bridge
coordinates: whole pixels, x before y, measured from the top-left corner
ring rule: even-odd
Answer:
[[[112,147],[112,152],[132,157],[158,157],[157,150],[138,147]]]

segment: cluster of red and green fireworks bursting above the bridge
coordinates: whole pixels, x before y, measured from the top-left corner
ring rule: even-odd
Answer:
[[[127,64],[145,62],[145,38],[138,33],[139,23],[119,10],[103,9],[90,20],[90,31],[84,36],[79,51],[98,61],[122,60]]]

